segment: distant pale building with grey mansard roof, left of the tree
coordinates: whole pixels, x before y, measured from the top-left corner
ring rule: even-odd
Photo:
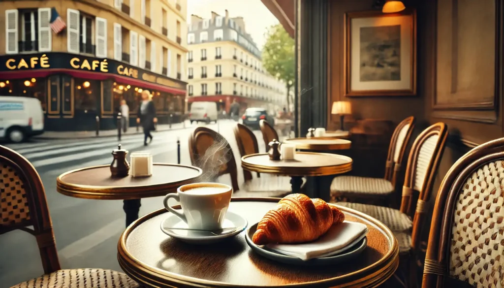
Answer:
[[[187,32],[187,101],[213,101],[229,112],[233,101],[246,107],[285,106],[285,84],[269,75],[261,51],[245,31],[243,18],[212,12],[212,18],[191,16]]]

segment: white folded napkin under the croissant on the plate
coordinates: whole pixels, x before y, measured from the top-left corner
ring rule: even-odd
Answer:
[[[343,221],[332,226],[316,241],[302,244],[268,244],[266,248],[301,260],[309,260],[341,253],[357,244],[366,234],[366,225]]]

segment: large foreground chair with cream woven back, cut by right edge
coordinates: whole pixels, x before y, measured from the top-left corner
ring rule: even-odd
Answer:
[[[448,171],[437,193],[423,288],[504,286],[504,138]]]

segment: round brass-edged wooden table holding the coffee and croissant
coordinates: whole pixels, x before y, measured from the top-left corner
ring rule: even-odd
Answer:
[[[229,209],[253,225],[278,198],[233,198]],[[176,207],[176,206],[175,206]],[[367,247],[339,265],[298,267],[266,259],[245,242],[245,232],[211,245],[190,245],[165,235],[165,209],[141,217],[121,235],[117,259],[134,280],[152,287],[375,287],[393,275],[399,245],[389,228],[355,210],[339,207],[349,221],[367,225]]]

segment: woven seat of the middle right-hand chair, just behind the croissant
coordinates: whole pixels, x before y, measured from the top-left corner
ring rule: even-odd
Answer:
[[[374,217],[380,222],[384,223],[393,232],[409,231],[409,229],[411,229],[411,227],[413,226],[413,222],[411,221],[410,217],[396,209],[350,202],[337,202],[336,204],[360,211],[371,217]]]

